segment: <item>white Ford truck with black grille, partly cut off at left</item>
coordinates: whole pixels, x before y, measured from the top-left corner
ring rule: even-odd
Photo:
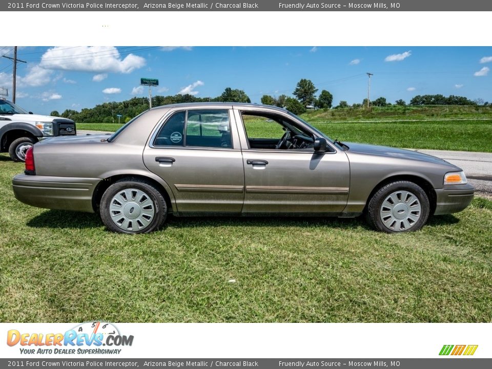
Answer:
[[[0,152],[8,152],[14,161],[25,161],[27,149],[39,140],[75,134],[71,119],[33,114],[0,98]]]

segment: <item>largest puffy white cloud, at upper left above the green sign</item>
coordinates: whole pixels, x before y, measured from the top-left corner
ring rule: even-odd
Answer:
[[[56,70],[131,73],[145,66],[145,63],[144,58],[133,54],[122,58],[114,46],[80,46],[48,49],[39,65]]]

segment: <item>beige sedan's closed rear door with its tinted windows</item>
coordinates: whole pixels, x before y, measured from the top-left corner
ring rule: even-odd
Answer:
[[[241,212],[244,169],[230,108],[176,108],[144,150],[146,167],[171,187],[179,212]]]

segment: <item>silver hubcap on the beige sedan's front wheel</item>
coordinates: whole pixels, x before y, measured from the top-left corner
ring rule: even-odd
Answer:
[[[420,201],[412,192],[395,191],[384,199],[379,216],[387,228],[403,232],[415,226],[421,211]]]

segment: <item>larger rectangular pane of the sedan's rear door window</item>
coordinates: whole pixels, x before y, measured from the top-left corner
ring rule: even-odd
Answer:
[[[232,148],[227,110],[189,110],[186,146]]]

